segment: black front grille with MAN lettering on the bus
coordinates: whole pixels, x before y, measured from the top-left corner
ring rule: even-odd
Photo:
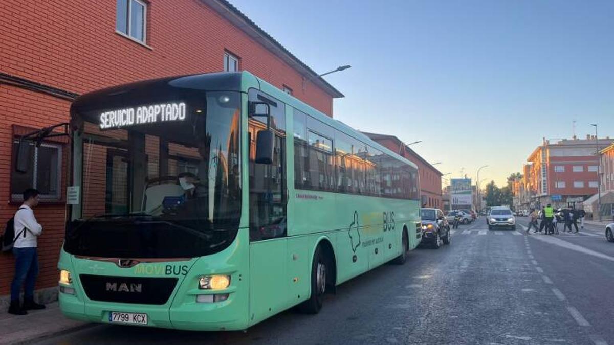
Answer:
[[[80,274],[79,279],[92,301],[136,304],[165,304],[177,285],[177,278]]]

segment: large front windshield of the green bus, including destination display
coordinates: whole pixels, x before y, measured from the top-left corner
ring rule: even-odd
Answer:
[[[227,247],[241,214],[240,94],[136,102],[73,114],[83,123],[73,143],[82,198],[64,249],[169,258]]]

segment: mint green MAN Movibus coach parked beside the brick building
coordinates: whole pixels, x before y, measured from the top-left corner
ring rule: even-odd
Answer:
[[[421,240],[413,163],[249,72],[88,93],[69,131],[71,319],[244,330]]]

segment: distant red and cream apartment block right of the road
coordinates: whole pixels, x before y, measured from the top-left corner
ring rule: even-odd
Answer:
[[[610,138],[599,139],[601,148],[613,142]],[[523,182],[525,198],[529,198],[530,203],[566,207],[596,194],[599,184],[596,152],[594,136],[554,143],[544,139],[527,158],[529,164],[524,169]]]

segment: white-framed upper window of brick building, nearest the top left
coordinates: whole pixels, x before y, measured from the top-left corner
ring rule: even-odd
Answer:
[[[145,43],[147,4],[141,0],[117,0],[115,29]]]

